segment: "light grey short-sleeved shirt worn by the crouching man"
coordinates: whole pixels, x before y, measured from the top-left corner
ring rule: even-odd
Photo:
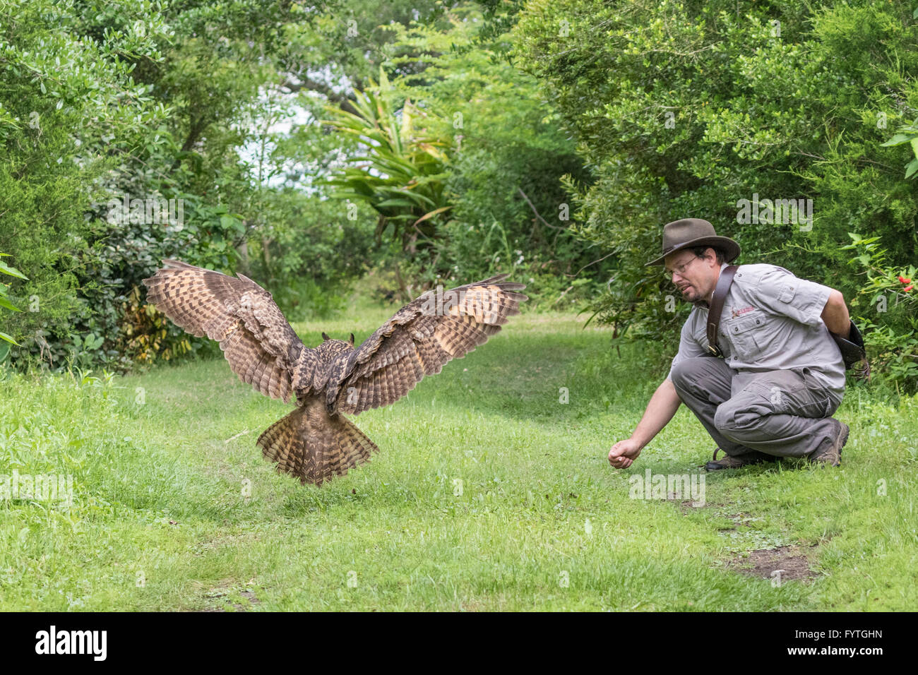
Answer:
[[[739,265],[717,329],[727,366],[743,373],[809,368],[817,384],[840,402],[845,363],[820,317],[831,293],[832,288],[800,279],[778,265]],[[708,307],[698,302],[682,326],[673,366],[708,354],[707,324]]]

